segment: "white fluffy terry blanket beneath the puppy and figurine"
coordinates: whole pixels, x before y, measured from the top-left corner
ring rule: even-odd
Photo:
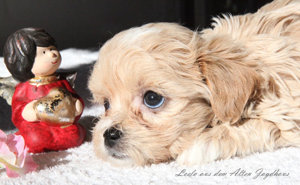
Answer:
[[[103,107],[89,104],[90,95],[86,89],[89,66],[97,55],[97,51],[90,50],[61,51],[60,69],[78,72],[75,90],[85,99],[86,105],[79,122],[89,130],[94,118],[104,112]],[[3,58],[0,61],[0,76],[10,76]],[[300,149],[295,147],[196,166],[179,166],[171,162],[144,168],[116,168],[95,157],[89,135],[80,147],[33,154],[32,157],[40,166],[37,171],[9,178],[2,168],[0,184],[300,184]],[[181,176],[185,173],[190,175]]]

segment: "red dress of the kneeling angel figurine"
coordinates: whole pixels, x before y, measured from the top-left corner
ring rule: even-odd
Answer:
[[[71,147],[80,146],[85,140],[85,129],[77,123],[81,114],[76,116],[73,125],[64,129],[59,125],[49,126],[42,121],[28,122],[23,119],[22,111],[25,106],[29,102],[47,95],[55,87],[67,89],[72,97],[80,100],[83,107],[83,100],[76,94],[67,80],[58,80],[57,82],[40,86],[31,85],[28,81],[16,85],[11,103],[11,119],[13,124],[19,129],[16,135],[23,136],[25,144],[31,153],[66,150]]]

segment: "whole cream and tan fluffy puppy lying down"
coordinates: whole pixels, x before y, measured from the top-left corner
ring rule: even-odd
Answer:
[[[150,23],[115,35],[88,82],[105,107],[96,155],[195,165],[300,146],[299,7],[275,0],[199,33]]]

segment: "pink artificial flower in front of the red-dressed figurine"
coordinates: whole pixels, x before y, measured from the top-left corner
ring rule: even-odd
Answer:
[[[0,167],[6,168],[8,177],[20,177],[18,173],[27,174],[38,168],[28,150],[21,135],[6,135],[0,130]]]

